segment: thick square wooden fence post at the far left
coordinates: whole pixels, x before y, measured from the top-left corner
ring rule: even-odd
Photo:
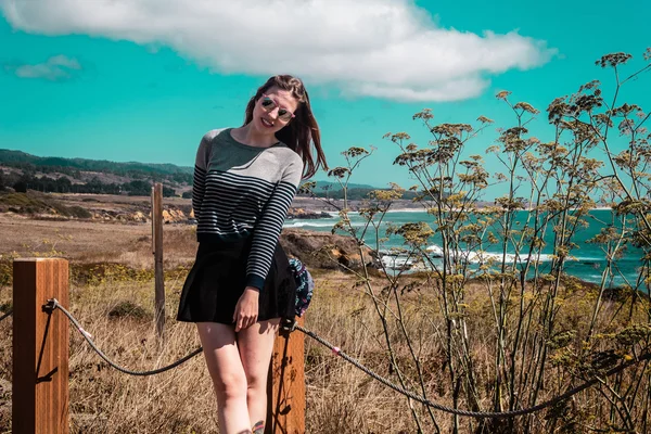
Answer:
[[[48,299],[68,306],[68,261],[13,263],[13,434],[68,433],[68,321],[43,311]]]

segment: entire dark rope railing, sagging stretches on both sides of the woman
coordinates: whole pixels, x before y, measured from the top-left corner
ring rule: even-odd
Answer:
[[[48,311],[49,314],[52,314],[55,309],[61,310],[69,320],[75,326],[75,328],[79,331],[79,333],[84,336],[84,339],[86,340],[86,342],[88,342],[88,344],[91,346],[92,349],[95,350],[95,353],[98,353],[98,355],[104,359],[104,361],[106,361],[111,367],[117,369],[120,372],[124,372],[126,374],[129,375],[139,375],[139,376],[145,376],[145,375],[154,375],[157,373],[162,373],[165,371],[168,371],[170,369],[174,369],[176,367],[178,367],[179,365],[190,360],[192,357],[196,356],[197,354],[200,354],[203,348],[199,347],[195,350],[193,350],[192,353],[190,353],[189,355],[182,357],[181,359],[175,361],[171,365],[165,366],[163,368],[158,368],[158,369],[154,369],[154,370],[149,370],[149,371],[132,371],[126,368],[123,368],[120,366],[118,366],[117,363],[115,363],[114,361],[112,361],[104,353],[102,353],[102,350],[100,350],[97,345],[94,344],[94,342],[90,339],[90,335],[88,332],[86,332],[81,326],[79,324],[79,322],[75,319],[75,317],[67,311],[63,306],[61,306],[59,304],[59,302],[56,301],[56,298],[52,298],[48,302],[48,304],[44,306],[44,310]],[[564,401],[565,399],[576,395],[577,393],[585,391],[588,387],[593,386],[595,384],[598,384],[600,382],[602,382],[603,378],[608,378],[617,372],[621,372],[627,368],[630,368],[641,361],[644,360],[650,360],[651,359],[651,353],[644,353],[642,355],[640,355],[639,357],[637,357],[634,360],[629,360],[626,361],[624,363],[621,363],[617,367],[611,368],[610,370],[603,372],[602,376],[596,376],[591,380],[588,380],[586,382],[584,382],[583,384],[571,388],[570,391],[563,393],[562,395],[559,395],[557,397],[553,397],[549,400],[546,400],[544,403],[540,403],[538,405],[532,406],[532,407],[527,407],[527,408],[523,408],[523,409],[518,409],[518,410],[510,410],[510,411],[470,411],[470,410],[463,410],[463,409],[459,409],[459,408],[452,408],[452,407],[448,407],[448,406],[444,406],[442,404],[437,404],[437,403],[433,403],[432,400],[420,396],[418,394],[414,394],[413,392],[410,392],[393,382],[391,382],[390,380],[385,379],[384,376],[375,373],[374,371],[372,371],[371,369],[369,369],[368,367],[363,366],[361,362],[359,362],[357,359],[348,356],[347,354],[345,354],[344,352],[342,352],[339,347],[332,345],[330,342],[328,342],[327,340],[324,340],[323,337],[319,336],[318,334],[316,334],[312,331],[309,331],[298,324],[293,324],[291,328],[288,328],[290,331],[291,330],[298,330],[299,332],[306,334],[307,336],[314,339],[315,341],[317,341],[318,343],[320,343],[321,345],[326,346],[327,348],[329,348],[330,350],[332,350],[332,353],[341,358],[343,358],[344,360],[346,360],[347,362],[352,363],[353,366],[355,366],[356,368],[358,368],[359,370],[361,370],[362,372],[365,372],[366,374],[370,375],[371,378],[375,379],[376,381],[379,381],[380,383],[384,384],[385,386],[392,388],[395,392],[398,392],[399,394],[403,394],[405,396],[407,396],[410,399],[413,399],[422,405],[425,405],[427,407],[431,407],[433,409],[439,410],[439,411],[444,411],[447,413],[451,413],[451,414],[457,414],[457,416],[463,416],[463,417],[470,417],[470,418],[476,418],[476,419],[502,419],[502,418],[513,418],[516,416],[524,416],[524,414],[531,414],[540,410],[544,410],[548,407],[552,407],[559,403]]]

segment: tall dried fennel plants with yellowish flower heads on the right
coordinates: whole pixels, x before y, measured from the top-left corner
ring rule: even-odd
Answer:
[[[648,50],[644,60],[650,58]],[[385,136],[398,146],[395,164],[416,180],[410,190],[430,218],[388,225],[384,233],[387,212],[405,192],[392,184],[370,194],[359,209],[361,227],[352,224],[345,199],[333,232],[358,241],[362,268],[350,271],[380,322],[385,373],[403,387],[454,408],[515,410],[649,352],[651,136],[644,124],[650,115],[621,103],[618,95],[651,65],[622,78],[629,59],[615,53],[597,62],[614,72],[611,100],[604,99],[598,81],[590,81],[551,102],[549,141],[528,133],[538,110],[513,103],[510,92],[498,93],[514,119],[497,130],[495,143],[483,146],[501,165],[499,174],[490,175],[481,155],[463,156],[471,141],[474,149],[482,148],[480,132],[493,125],[487,117],[481,116],[476,126],[435,125],[432,112],[423,110],[413,118],[431,133],[426,145],[411,143],[405,132]],[[344,153],[347,165],[329,175],[345,191],[371,153],[349,149]],[[480,206],[497,184],[506,194]],[[597,201],[610,210],[597,215]],[[590,225],[602,228],[589,240],[605,258],[599,284],[567,272],[580,248],[577,234]],[[378,286],[367,265],[371,258],[365,255],[368,247],[375,256],[386,251],[387,235],[404,239],[397,253],[421,271],[388,270],[376,260],[385,280]],[[434,242],[441,248],[429,248]],[[635,281],[618,267],[631,254],[639,256]],[[624,283],[615,285],[615,280]],[[424,294],[419,303],[426,306],[413,308],[414,293]],[[429,368],[436,357],[441,375]],[[599,386],[548,410],[511,419],[460,419],[416,403],[409,408],[419,432],[648,432],[650,375],[648,361],[641,362],[613,378],[600,376]]]

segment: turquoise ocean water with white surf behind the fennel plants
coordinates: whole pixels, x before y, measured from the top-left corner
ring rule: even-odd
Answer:
[[[516,225],[515,227],[522,227],[526,221],[528,212],[519,212],[516,214]],[[357,213],[349,214],[350,221],[354,227],[361,229],[365,225],[363,219]],[[339,221],[339,216],[336,213],[332,213],[331,218],[322,218],[317,220],[303,220],[303,219],[294,219],[288,220],[284,225],[285,228],[302,228],[314,231],[323,231],[331,232],[333,226]],[[407,222],[418,222],[425,221],[433,227],[434,218],[431,215],[427,215],[425,212],[420,210],[408,210],[408,212],[390,212],[387,213],[383,224],[381,225],[380,235],[386,238],[386,227],[387,224],[393,224],[395,226],[401,226]],[[577,247],[571,252],[572,259],[569,260],[565,265],[565,270],[569,275],[575,276],[582,280],[600,283],[602,279],[602,272],[605,268],[605,254],[603,252],[603,246],[600,244],[588,243],[587,241],[592,239],[596,234],[598,234],[601,229],[608,225],[609,221],[612,221],[611,210],[610,209],[595,209],[590,213],[590,216],[587,217],[587,221],[589,226],[587,228],[582,228],[577,230],[573,241],[577,244]],[[495,228],[494,232],[497,232],[497,228]],[[336,233],[344,234],[342,231],[337,231]],[[551,229],[548,228],[545,240],[547,242],[547,246],[544,248],[542,254],[537,258],[540,264],[539,268],[541,272],[549,271],[549,264],[551,260],[552,254],[552,239],[553,233]],[[365,235],[366,243],[375,248],[375,234],[374,232],[369,231]],[[436,252],[441,246],[441,237],[433,235],[429,241],[427,245],[431,252]],[[388,252],[392,247],[405,247],[404,240],[398,235],[391,235],[388,240],[383,242],[380,245],[381,252]],[[486,242],[485,252],[476,252],[464,250],[458,252],[457,254],[461,255],[465,260],[468,260],[472,265],[475,266],[485,260],[486,258],[494,257],[496,259],[501,259],[501,248],[499,245],[489,245]],[[514,252],[508,252],[509,255],[513,255]],[[636,285],[636,281],[638,279],[639,267],[641,265],[640,258],[642,257],[642,252],[638,248],[635,248],[630,245],[627,246],[626,253],[622,258],[617,259],[615,266],[618,272],[615,272],[612,278],[609,277],[607,281],[607,285],[621,285],[625,284],[627,281],[631,285]],[[511,263],[513,260],[513,256],[510,256]],[[388,268],[398,269],[407,263],[407,258],[400,255],[387,255],[383,257],[384,264]],[[435,264],[441,265],[439,259],[434,259]],[[438,261],[438,263],[437,263]],[[639,289],[643,289],[639,288]]]

